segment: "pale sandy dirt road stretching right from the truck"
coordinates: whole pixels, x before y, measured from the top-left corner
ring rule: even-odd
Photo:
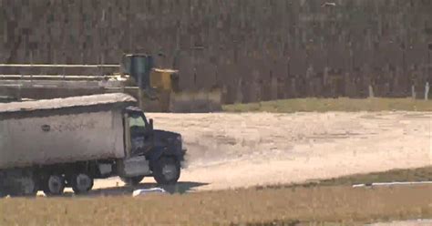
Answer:
[[[432,164],[432,113],[148,114],[178,131],[191,190],[302,182]],[[152,182],[152,179],[145,181]],[[121,185],[98,180],[95,189]]]

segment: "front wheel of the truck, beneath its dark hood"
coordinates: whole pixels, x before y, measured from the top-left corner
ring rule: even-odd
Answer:
[[[180,179],[180,162],[173,157],[161,157],[153,165],[153,177],[161,185],[177,183]]]

